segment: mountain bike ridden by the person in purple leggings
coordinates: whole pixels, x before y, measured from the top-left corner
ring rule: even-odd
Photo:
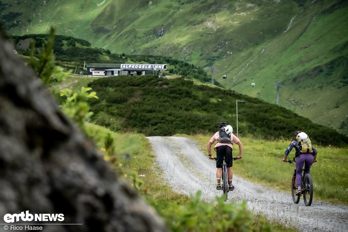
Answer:
[[[291,166],[292,163],[296,163],[295,157],[293,160],[288,160],[289,165]],[[306,171],[309,171],[309,169],[303,168],[302,169],[302,177],[301,177],[301,191],[303,194],[303,201],[304,205],[310,206],[312,204],[313,200],[313,180],[310,173],[304,174]],[[301,195],[296,195],[297,191],[297,182],[296,182],[296,168],[294,171],[294,175],[292,176],[291,181],[291,195],[292,200],[295,204],[298,204],[300,202]]]

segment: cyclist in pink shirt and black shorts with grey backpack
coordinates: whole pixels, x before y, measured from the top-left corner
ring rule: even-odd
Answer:
[[[225,159],[226,165],[227,165],[227,176],[228,176],[228,184],[230,185],[230,190],[234,190],[235,187],[232,185],[232,177],[233,177],[233,171],[232,171],[232,142],[237,144],[239,146],[239,156],[238,159],[242,159],[243,155],[243,144],[240,142],[240,140],[232,134],[232,127],[230,125],[227,125],[226,122],[221,122],[219,124],[220,130],[217,131],[213,137],[209,140],[207,144],[207,150],[208,150],[208,156],[209,159],[214,159],[212,156],[212,145],[215,141],[217,141],[216,145],[214,146],[214,151],[216,151],[216,190],[221,190],[221,171],[222,171],[222,165],[223,165],[223,159]],[[220,133],[221,137],[220,137]]]

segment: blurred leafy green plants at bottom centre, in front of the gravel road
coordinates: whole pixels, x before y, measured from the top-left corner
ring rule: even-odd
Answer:
[[[215,205],[199,200],[201,194],[191,195],[188,205],[172,204],[161,211],[172,231],[271,231],[264,219],[248,210],[246,201],[226,203],[216,197]]]

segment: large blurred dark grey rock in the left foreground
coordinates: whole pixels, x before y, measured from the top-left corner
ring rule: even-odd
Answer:
[[[64,221],[17,223],[80,224],[43,231],[167,231],[13,49],[0,32],[0,223],[29,210]]]

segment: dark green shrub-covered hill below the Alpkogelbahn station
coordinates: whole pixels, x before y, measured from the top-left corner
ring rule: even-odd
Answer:
[[[90,102],[95,110],[92,120],[98,121],[101,111],[110,118],[123,119],[117,126],[116,122],[108,122],[110,128],[121,126],[147,136],[215,133],[221,121],[236,126],[236,99],[243,99],[245,102],[238,109],[238,120],[243,125],[238,128],[239,135],[291,139],[294,131],[301,129],[313,144],[348,144],[346,136],[283,107],[232,90],[194,85],[184,78],[105,77],[88,86],[100,96]]]

